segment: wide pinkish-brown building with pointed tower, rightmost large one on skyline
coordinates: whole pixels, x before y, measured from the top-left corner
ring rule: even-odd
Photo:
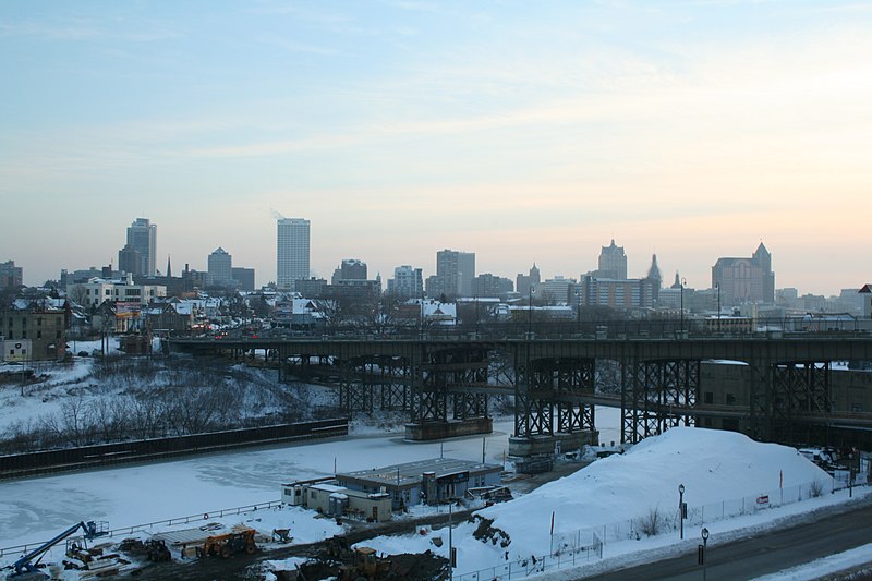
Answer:
[[[723,306],[775,302],[772,254],[763,243],[750,258],[718,258],[712,267],[712,288]]]

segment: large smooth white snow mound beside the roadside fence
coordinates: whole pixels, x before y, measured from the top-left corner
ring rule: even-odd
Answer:
[[[694,507],[775,491],[782,479],[784,487],[831,480],[795,448],[735,432],[675,427],[479,513],[509,535],[512,553],[545,555],[552,512],[555,535],[572,533],[644,518],[652,510],[673,515],[679,484],[685,501]]]

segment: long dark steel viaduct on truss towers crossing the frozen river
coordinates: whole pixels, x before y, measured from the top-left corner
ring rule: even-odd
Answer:
[[[401,410],[407,437],[436,439],[492,429],[488,398],[513,396],[510,453],[594,443],[595,406],[621,409],[621,440],[637,443],[705,415],[743,417],[751,437],[795,444],[823,428],[872,429],[872,413],[839,413],[829,398],[833,362],[872,361],[872,337],[524,338],[367,337],[171,339],[173,351],[258,361],[298,378],[338,386],[348,412]],[[263,356],[261,356],[263,353]],[[700,364],[749,366],[749,401],[700,401]],[[602,371],[611,370],[604,386]],[[600,377],[600,379],[597,379]],[[810,436],[811,434],[811,436]]]

